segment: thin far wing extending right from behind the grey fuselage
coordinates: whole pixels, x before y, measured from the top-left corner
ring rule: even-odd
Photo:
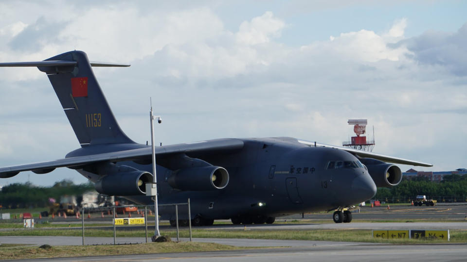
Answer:
[[[381,160],[384,162],[389,162],[389,163],[394,163],[394,164],[409,164],[409,165],[415,165],[415,166],[433,166],[432,164],[427,164],[423,162],[418,162],[418,161],[413,161],[413,160],[408,160],[408,159],[403,159],[403,158],[397,158],[397,157],[392,157],[392,156],[386,156],[386,155],[381,155],[373,152],[367,152],[367,151],[362,151],[362,150],[357,150],[357,149],[352,149],[348,147],[337,147],[337,146],[332,146],[332,145],[326,145],[322,143],[317,143],[317,142],[311,142],[311,141],[305,141],[305,140],[299,140],[298,142],[308,145],[310,147],[331,147],[331,148],[337,148],[341,149],[344,151],[347,151],[353,155],[358,155],[359,157],[368,157],[368,158],[374,158],[377,160]]]

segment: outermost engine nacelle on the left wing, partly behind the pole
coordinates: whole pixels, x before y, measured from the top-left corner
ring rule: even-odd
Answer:
[[[153,176],[144,171],[111,173],[96,182],[97,192],[109,196],[135,196],[146,194],[146,183],[152,183]]]

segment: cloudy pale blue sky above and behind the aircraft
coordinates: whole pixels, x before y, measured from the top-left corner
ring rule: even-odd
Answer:
[[[374,152],[467,167],[467,10],[454,0],[0,1],[0,62],[73,49],[91,61],[120,126],[164,145],[291,136],[341,145],[350,118]],[[79,147],[47,77],[0,68],[0,166]],[[410,166],[401,166],[405,171]],[[67,168],[0,185],[86,180]]]

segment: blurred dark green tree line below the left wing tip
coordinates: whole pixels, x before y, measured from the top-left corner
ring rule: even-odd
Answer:
[[[35,186],[30,182],[13,183],[1,189],[0,205],[4,209],[47,207],[49,198],[59,202],[61,196],[79,196],[91,190],[95,190],[92,182],[76,185],[71,180],[61,180],[50,187]]]

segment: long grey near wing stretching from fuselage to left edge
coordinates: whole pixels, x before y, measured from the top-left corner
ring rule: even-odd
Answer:
[[[228,152],[233,151],[235,149],[241,149],[242,147],[242,140],[230,138],[200,141],[187,144],[177,144],[164,147],[156,147],[156,159],[180,153],[193,155],[203,153],[216,153],[220,151]],[[144,147],[131,150],[69,157],[42,163],[2,167],[0,168],[0,178],[10,178],[17,175],[21,171],[33,171],[36,174],[44,174],[53,171],[57,167],[70,167],[72,169],[79,169],[85,165],[98,162],[118,162],[148,159],[151,157],[151,154],[151,147]]]

